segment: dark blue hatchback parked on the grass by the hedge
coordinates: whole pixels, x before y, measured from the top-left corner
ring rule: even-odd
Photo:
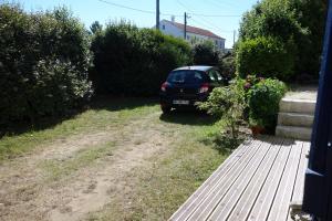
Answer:
[[[214,66],[173,70],[160,87],[162,110],[167,114],[172,108],[195,107],[196,102],[205,102],[215,87],[228,85],[228,81]]]

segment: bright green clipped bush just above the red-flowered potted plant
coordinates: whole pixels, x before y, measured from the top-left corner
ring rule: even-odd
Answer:
[[[293,75],[293,46],[274,38],[242,41],[237,49],[237,71],[241,77],[255,74],[282,81]]]

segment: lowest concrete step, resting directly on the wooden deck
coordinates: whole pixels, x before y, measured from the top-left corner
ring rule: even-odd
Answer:
[[[310,127],[280,126],[276,128],[276,136],[293,139],[310,140],[312,129]]]

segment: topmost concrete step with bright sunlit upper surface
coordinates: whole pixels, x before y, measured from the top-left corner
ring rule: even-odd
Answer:
[[[314,114],[315,101],[313,99],[293,99],[282,98],[280,101],[280,112],[283,113],[303,113]]]

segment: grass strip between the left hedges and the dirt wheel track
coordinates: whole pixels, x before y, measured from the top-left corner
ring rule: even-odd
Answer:
[[[2,137],[0,139],[0,162],[71,135],[121,126],[122,123],[128,123],[141,115],[156,110],[155,104],[156,102],[153,99],[116,98],[108,103],[107,98],[98,98],[90,109],[73,118],[54,125],[53,122],[41,123],[35,129],[27,129],[20,135]]]

